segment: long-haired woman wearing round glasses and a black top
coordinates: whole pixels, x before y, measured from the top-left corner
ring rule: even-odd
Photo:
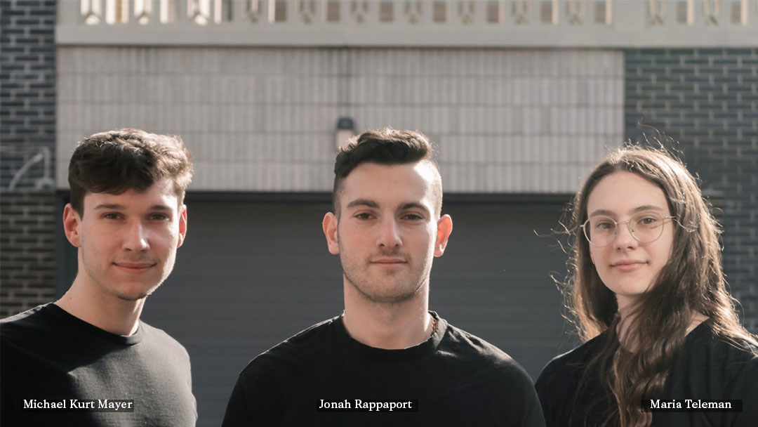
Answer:
[[[684,165],[619,149],[569,209],[566,303],[585,342],[537,380],[548,427],[758,425],[758,341],[735,313],[719,226]],[[741,412],[694,410],[714,400],[741,400]]]

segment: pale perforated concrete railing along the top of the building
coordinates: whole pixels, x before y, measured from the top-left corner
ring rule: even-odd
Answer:
[[[58,44],[755,46],[758,0],[69,0]]]

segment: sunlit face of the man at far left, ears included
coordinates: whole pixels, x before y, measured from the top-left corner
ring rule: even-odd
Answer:
[[[77,234],[69,239],[79,247],[78,275],[121,300],[151,294],[174,268],[186,233],[186,209],[177,205],[166,179],[144,192],[87,193],[82,217],[67,206],[66,215],[76,218]]]

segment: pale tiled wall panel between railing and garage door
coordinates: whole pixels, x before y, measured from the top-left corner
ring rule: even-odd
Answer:
[[[77,140],[183,137],[193,190],[329,191],[334,125],[421,130],[446,192],[571,193],[623,137],[623,55],[569,49],[58,47],[58,187]]]

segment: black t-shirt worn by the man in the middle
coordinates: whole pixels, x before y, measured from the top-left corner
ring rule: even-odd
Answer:
[[[534,386],[521,366],[492,344],[432,316],[437,328],[431,338],[405,350],[359,343],[341,317],[302,331],[243,369],[224,427],[544,425]],[[321,400],[351,410],[380,400],[412,401],[418,412],[386,407],[318,412]]]

